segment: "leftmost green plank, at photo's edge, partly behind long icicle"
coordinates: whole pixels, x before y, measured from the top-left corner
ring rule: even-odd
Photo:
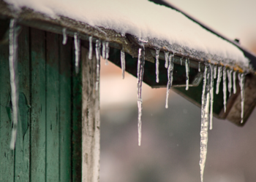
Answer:
[[[14,153],[10,150],[12,130],[10,105],[9,45],[0,46],[0,181],[11,182],[14,175]]]

